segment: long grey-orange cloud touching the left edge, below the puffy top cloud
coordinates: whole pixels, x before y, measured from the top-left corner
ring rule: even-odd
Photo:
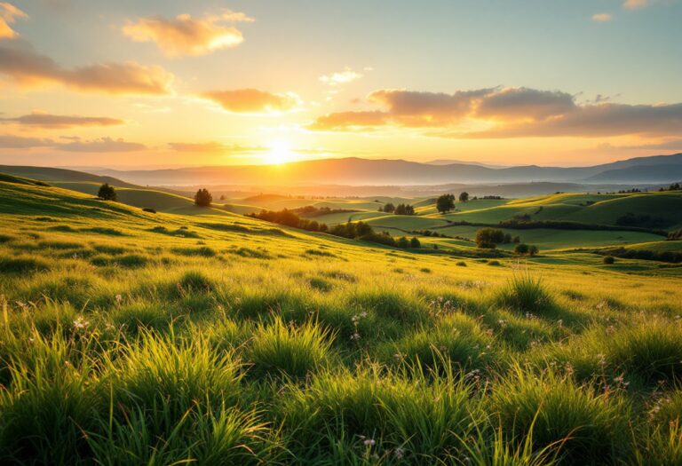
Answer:
[[[26,44],[0,46],[0,74],[29,85],[59,83],[78,91],[150,95],[170,93],[174,78],[162,67],[134,61],[62,67]]]

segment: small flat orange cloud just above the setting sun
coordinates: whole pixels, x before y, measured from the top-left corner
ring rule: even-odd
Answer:
[[[274,114],[289,112],[301,103],[294,93],[273,93],[258,89],[237,89],[234,91],[210,91],[202,93],[228,112],[240,114]]]

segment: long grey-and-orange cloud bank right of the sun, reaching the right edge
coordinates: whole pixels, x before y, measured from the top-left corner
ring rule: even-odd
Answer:
[[[379,90],[376,111],[318,117],[309,130],[421,128],[442,138],[666,136],[682,131],[682,104],[626,105],[603,100],[579,104],[563,91],[525,87],[455,93]]]

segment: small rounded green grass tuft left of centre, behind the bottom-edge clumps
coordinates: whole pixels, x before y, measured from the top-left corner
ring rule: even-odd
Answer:
[[[305,377],[329,363],[334,336],[313,322],[296,327],[280,317],[255,329],[247,357],[253,375]]]

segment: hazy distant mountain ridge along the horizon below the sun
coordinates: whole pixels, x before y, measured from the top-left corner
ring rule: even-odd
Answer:
[[[638,178],[637,170],[646,177]],[[637,157],[591,167],[536,165],[490,168],[468,163],[433,165],[405,160],[319,159],[285,165],[196,167],[167,170],[95,170],[99,175],[155,186],[187,185],[347,185],[414,186],[448,183],[670,183],[679,181],[682,154]],[[618,171],[630,170],[630,171]],[[609,173],[599,178],[600,174]]]

